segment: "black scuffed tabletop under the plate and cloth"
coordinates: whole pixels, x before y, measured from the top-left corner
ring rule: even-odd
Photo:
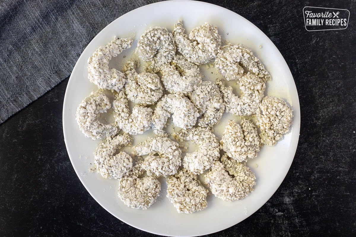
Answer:
[[[255,214],[210,236],[356,236],[356,1],[209,1],[276,44],[297,85],[301,130],[283,183]],[[347,29],[308,32],[304,6],[350,10]],[[110,215],[69,161],[68,79],[0,125],[0,236],[152,236]]]

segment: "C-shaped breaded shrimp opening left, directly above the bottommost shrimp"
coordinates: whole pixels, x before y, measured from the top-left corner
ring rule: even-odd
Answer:
[[[187,153],[183,158],[183,167],[194,174],[201,174],[220,158],[218,138],[208,128],[191,128],[173,134],[178,141],[191,141],[198,149]]]

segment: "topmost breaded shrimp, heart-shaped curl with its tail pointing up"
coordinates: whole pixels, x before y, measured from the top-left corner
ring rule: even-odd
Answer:
[[[183,23],[179,20],[173,29],[174,42],[177,50],[188,61],[195,64],[204,64],[213,60],[221,45],[221,36],[218,27],[205,22],[203,25],[194,28],[189,33],[184,34]]]

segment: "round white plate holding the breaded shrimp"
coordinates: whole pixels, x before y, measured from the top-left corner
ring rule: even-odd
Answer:
[[[119,6],[118,6],[119,7]],[[265,94],[282,97],[294,109],[293,126],[273,147],[264,146],[258,156],[250,160],[257,177],[255,190],[240,201],[222,201],[213,195],[208,197],[208,208],[194,214],[179,214],[166,198],[166,185],[162,181],[161,195],[157,202],[147,210],[135,210],[125,206],[116,195],[117,181],[103,179],[98,173],[91,173],[93,151],[99,141],[85,138],[75,122],[78,104],[91,91],[96,90],[88,80],[87,59],[101,45],[105,45],[116,35],[134,37],[136,40],[130,50],[124,51],[112,65],[130,58],[136,47],[137,39],[149,26],[163,26],[173,29],[174,23],[183,19],[186,33],[196,26],[209,22],[218,26],[219,33],[231,43],[241,43],[251,48],[272,75],[267,83]],[[260,48],[260,45],[262,48]],[[127,56],[124,58],[124,56]],[[121,64],[117,66],[121,68]],[[204,80],[214,80],[215,69],[204,69]],[[211,74],[213,72],[213,74]],[[220,128],[214,133],[221,136],[221,127],[228,118],[239,121],[240,118],[225,115]],[[300,109],[297,89],[289,68],[281,53],[268,37],[251,22],[232,11],[219,6],[197,1],[164,1],[133,10],[105,27],[85,48],[78,59],[68,82],[63,105],[63,132],[70,161],[80,181],[91,196],[118,219],[138,229],[169,236],[198,236],[224,230],[258,210],[277,190],[286,176],[293,161],[298,144],[300,128]],[[135,137],[134,145],[145,140],[152,133]]]

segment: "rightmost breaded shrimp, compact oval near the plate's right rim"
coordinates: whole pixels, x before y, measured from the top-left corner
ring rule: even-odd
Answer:
[[[273,146],[289,131],[293,110],[283,99],[266,96],[257,109],[256,117],[257,125],[261,129],[261,142]]]

